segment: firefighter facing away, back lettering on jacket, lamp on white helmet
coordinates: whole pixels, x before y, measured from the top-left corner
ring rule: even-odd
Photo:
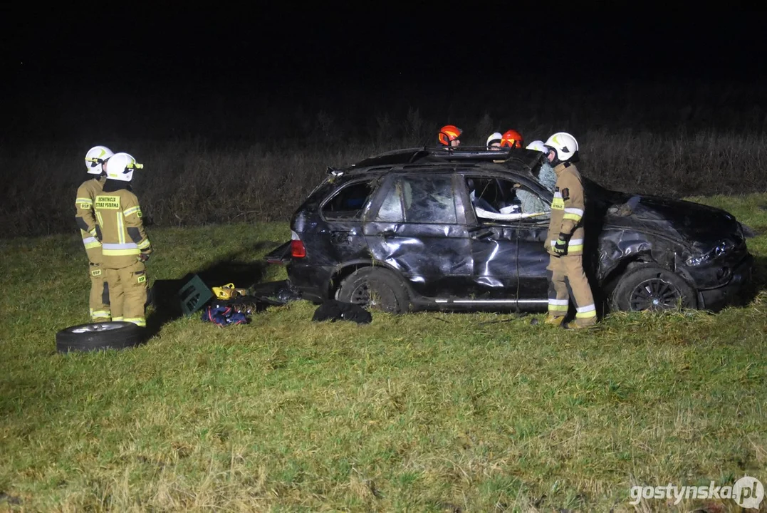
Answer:
[[[94,210],[100,228],[101,252],[109,284],[112,321],[146,326],[146,266],[152,247],[144,232],[138,198],[130,190],[133,170],[141,169],[127,153],[115,153],[107,163],[107,181],[96,196]]]

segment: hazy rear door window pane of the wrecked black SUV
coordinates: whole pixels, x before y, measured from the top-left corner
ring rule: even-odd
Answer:
[[[456,224],[450,176],[408,176],[401,180],[405,222]]]

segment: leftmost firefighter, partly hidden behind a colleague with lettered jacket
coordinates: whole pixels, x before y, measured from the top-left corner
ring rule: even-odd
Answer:
[[[88,276],[91,278],[88,307],[91,311],[91,322],[110,320],[109,288],[101,266],[101,242],[94,215],[94,199],[104,187],[104,181],[107,179],[104,164],[112,155],[112,150],[106,146],[94,146],[88,150],[85,154],[88,179],[77,188],[77,198],[74,200],[74,220],[80,228],[85,253],[88,256]]]

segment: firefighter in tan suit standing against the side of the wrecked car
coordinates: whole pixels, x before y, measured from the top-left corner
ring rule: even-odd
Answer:
[[[546,236],[548,264],[548,315],[545,322],[568,329],[597,324],[594,295],[583,270],[584,191],[581,174],[573,162],[578,160],[578,141],[569,133],[558,132],[545,143],[547,159],[557,176],[551,221]],[[564,323],[570,298],[575,302],[575,320]]]

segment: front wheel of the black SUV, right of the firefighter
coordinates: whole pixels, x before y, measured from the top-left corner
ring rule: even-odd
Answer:
[[[680,275],[645,264],[630,268],[618,279],[611,294],[611,307],[621,311],[696,308],[696,293]]]

